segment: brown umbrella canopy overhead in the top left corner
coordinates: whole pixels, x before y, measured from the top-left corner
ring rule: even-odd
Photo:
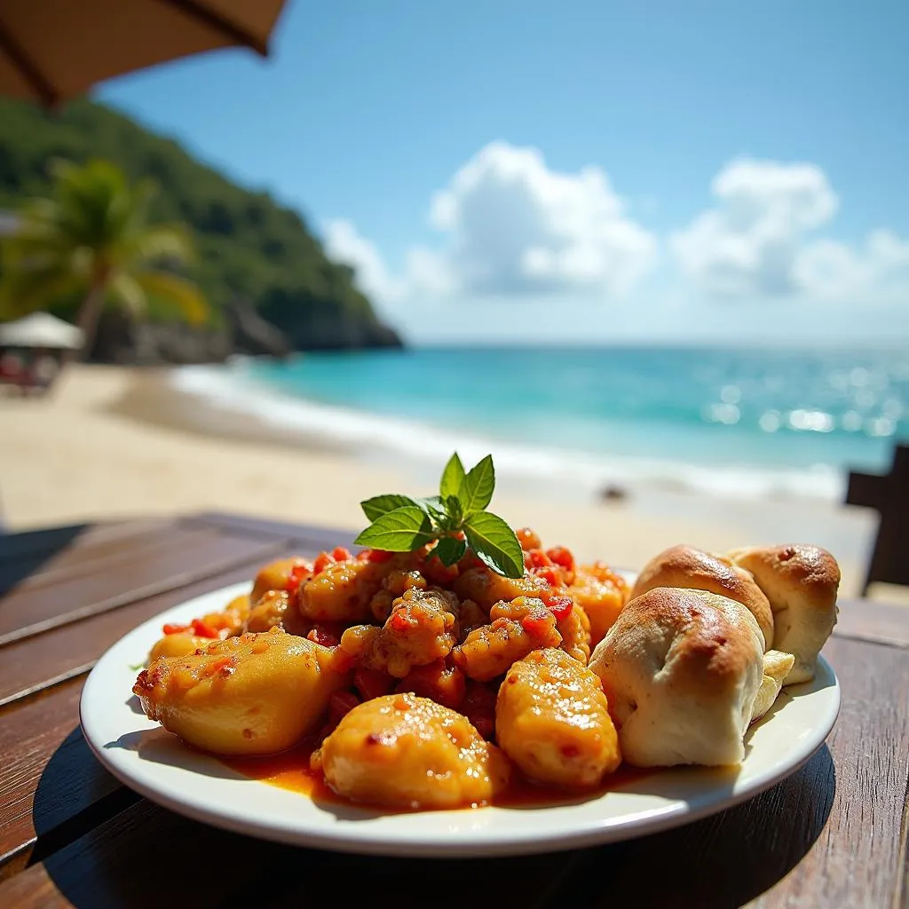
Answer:
[[[268,53],[285,0],[2,0],[0,95],[46,106],[219,47]]]

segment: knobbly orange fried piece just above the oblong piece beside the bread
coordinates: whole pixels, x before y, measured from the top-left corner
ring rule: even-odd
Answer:
[[[452,650],[452,660],[468,678],[488,682],[507,671],[538,647],[557,647],[562,635],[555,616],[531,596],[497,603],[490,610],[491,624],[480,625]]]

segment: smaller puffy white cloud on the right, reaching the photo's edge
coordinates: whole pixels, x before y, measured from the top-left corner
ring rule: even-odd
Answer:
[[[811,238],[839,204],[816,165],[736,161],[715,177],[711,191],[718,205],[670,239],[695,290],[749,300],[909,299],[909,243],[883,230],[858,247]]]

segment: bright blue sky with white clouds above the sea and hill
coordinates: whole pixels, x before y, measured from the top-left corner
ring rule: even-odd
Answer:
[[[291,0],[270,59],[98,97],[302,209],[418,341],[909,337],[906,34],[898,2]]]

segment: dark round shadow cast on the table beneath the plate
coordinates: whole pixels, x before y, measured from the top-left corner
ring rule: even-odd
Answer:
[[[463,906],[465,894],[474,907],[496,909],[515,901],[555,909],[566,900],[724,909],[770,890],[802,861],[824,830],[835,787],[824,745],[764,794],[663,834],[564,854],[415,861],[300,849],[198,824],[117,784],[75,729],[38,784],[30,864],[44,862],[57,890],[78,907],[160,909],[162,899],[296,907],[320,895],[336,898],[340,881],[345,903],[376,904],[379,896],[383,904],[385,894],[398,909],[427,900],[435,909]],[[198,874],[199,867],[221,871]]]

